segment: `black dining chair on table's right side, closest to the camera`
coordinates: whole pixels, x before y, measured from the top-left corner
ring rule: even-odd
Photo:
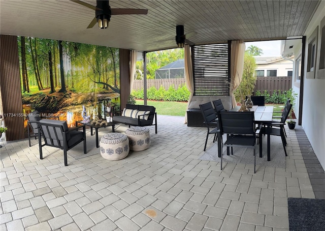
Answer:
[[[272,121],[269,128],[270,135],[276,135],[281,137],[285,156],[287,156],[286,149],[285,149],[287,142],[284,134],[285,132],[284,125],[292,106],[293,106],[292,104],[288,103],[283,109],[281,121],[274,121],[274,122]],[[262,127],[261,133],[267,134],[266,129],[268,128]],[[259,136],[259,152],[262,152],[262,136]]]

